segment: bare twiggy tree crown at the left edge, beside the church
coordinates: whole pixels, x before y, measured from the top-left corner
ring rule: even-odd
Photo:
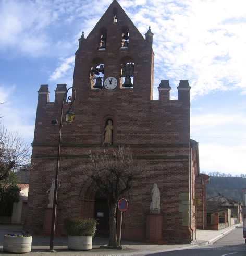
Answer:
[[[30,161],[30,146],[17,134],[0,128],[0,181]]]

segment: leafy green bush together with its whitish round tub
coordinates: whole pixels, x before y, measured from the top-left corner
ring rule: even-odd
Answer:
[[[65,220],[64,228],[68,234],[68,249],[91,250],[96,224],[97,222],[93,218],[68,218]]]

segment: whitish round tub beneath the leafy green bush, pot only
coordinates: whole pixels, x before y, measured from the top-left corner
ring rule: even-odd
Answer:
[[[86,251],[92,249],[92,236],[68,236],[68,249]]]

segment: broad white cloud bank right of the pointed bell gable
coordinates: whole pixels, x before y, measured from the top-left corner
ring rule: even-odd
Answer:
[[[152,1],[137,14],[136,1],[121,3],[142,34],[149,25],[155,33],[155,86],[169,79],[176,88],[178,80],[189,79],[192,98],[235,88],[245,92],[244,0],[225,0],[223,7],[220,0]]]

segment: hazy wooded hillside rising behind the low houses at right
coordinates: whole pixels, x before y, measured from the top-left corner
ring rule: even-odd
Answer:
[[[243,189],[246,189],[246,178],[210,177],[210,182],[207,184],[207,198],[220,193],[228,199],[243,202]]]

